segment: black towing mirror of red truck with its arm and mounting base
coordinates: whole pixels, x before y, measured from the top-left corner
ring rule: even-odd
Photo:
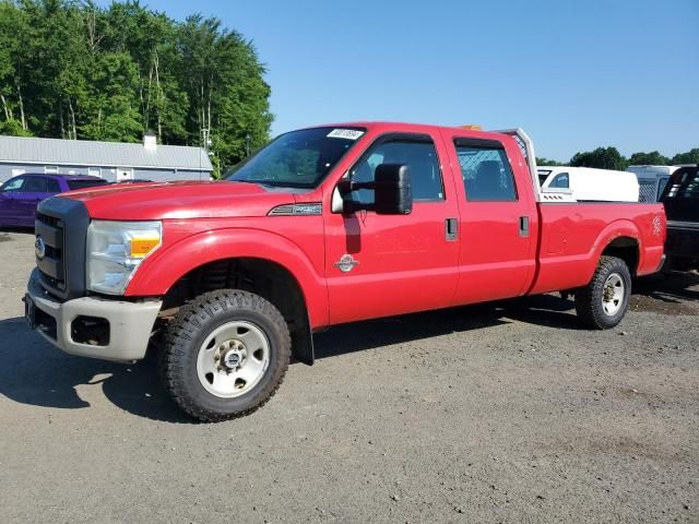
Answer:
[[[374,191],[374,204],[345,200],[343,195],[357,189]],[[407,215],[413,211],[410,168],[404,164],[380,164],[371,182],[343,180],[333,192],[333,213],[374,211],[377,215]]]

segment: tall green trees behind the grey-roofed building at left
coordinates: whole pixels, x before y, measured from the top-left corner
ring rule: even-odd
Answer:
[[[210,145],[216,172],[269,140],[265,69],[215,17],[0,0],[0,134]]]

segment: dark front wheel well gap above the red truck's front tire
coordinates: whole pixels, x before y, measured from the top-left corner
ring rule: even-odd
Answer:
[[[270,260],[225,259],[190,271],[167,291],[161,317],[171,318],[185,303],[217,289],[242,289],[269,300],[288,324],[294,356],[300,361],[312,364],[312,336],[304,291],[286,267]]]

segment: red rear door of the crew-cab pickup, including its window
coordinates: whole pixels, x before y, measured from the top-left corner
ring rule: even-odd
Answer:
[[[448,142],[461,207],[457,302],[522,295],[535,269],[536,219],[531,191],[513,176],[507,148],[516,146],[458,134]]]

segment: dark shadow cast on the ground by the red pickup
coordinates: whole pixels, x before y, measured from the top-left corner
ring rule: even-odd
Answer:
[[[316,335],[316,356],[328,358],[389,344],[510,323],[508,319],[577,329],[569,306],[556,297],[517,300],[429,311],[333,327]],[[543,300],[543,301],[542,301]],[[553,308],[528,312],[532,305]],[[552,317],[553,315],[553,317]],[[23,318],[0,321],[0,394],[11,401],[56,409],[82,409],[103,402],[154,420],[191,424],[168,397],[157,378],[154,355],[137,365],[66,355],[31,331]],[[95,392],[97,388],[102,391]]]

